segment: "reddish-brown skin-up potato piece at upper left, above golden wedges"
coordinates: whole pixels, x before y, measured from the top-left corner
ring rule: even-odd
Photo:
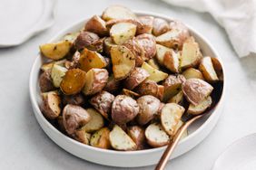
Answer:
[[[100,37],[96,33],[82,32],[74,41],[74,47],[77,50],[82,50],[84,47],[91,46],[94,42],[100,40]]]

